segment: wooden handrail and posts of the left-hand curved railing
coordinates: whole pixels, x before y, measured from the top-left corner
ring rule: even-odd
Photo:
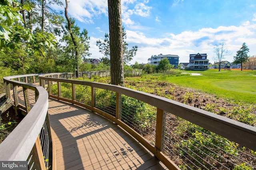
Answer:
[[[14,105],[18,107],[18,93],[17,87],[23,88],[24,99],[26,105],[27,115],[22,119],[22,121],[17,125],[17,127],[8,135],[8,137],[0,144],[0,160],[1,161],[26,161],[32,162],[31,159],[39,162],[38,164],[33,164],[32,166],[38,169],[46,169],[44,164],[44,158],[39,157],[34,158],[31,152],[42,152],[40,149],[40,139],[38,135],[41,132],[42,126],[45,124],[47,119],[48,111],[48,93],[41,86],[36,86],[34,84],[29,84],[28,77],[32,80],[31,83],[35,83],[35,76],[41,74],[27,74],[18,76],[8,76],[4,77],[4,83],[6,85],[6,96],[10,98],[10,86],[13,90]],[[25,78],[24,82],[12,80],[20,78]],[[35,91],[35,104],[30,109],[29,101],[26,96],[26,90],[31,89]],[[27,100],[27,101],[26,101]],[[48,126],[49,127],[49,126]],[[50,134],[48,134],[50,135]],[[31,155],[31,156],[30,156]],[[40,165],[41,164],[41,165]]]

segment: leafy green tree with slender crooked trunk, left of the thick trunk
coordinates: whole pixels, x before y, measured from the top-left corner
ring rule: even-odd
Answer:
[[[75,24],[74,19],[68,16],[68,1],[66,0],[65,17],[67,20],[66,30],[62,41],[66,42],[63,47],[67,57],[70,58],[71,65],[74,66],[76,77],[79,76],[79,65],[82,63],[82,57],[89,56],[89,39],[86,29],[80,33],[80,27]]]

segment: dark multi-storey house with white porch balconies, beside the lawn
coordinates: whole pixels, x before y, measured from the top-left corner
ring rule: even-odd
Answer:
[[[190,54],[188,69],[190,70],[208,70],[209,60],[207,54]]]

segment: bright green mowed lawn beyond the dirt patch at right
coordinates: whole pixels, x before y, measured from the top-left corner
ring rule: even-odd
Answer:
[[[198,89],[217,98],[256,104],[256,70],[192,71],[203,76],[158,76],[158,80]],[[191,71],[188,71],[191,73]],[[146,75],[145,75],[146,76]],[[150,78],[150,76],[148,77]],[[152,77],[151,77],[152,78]]]

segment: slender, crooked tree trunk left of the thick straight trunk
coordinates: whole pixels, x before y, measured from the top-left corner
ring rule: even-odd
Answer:
[[[78,44],[74,38],[74,34],[72,32],[72,29],[71,29],[71,21],[68,17],[68,1],[66,0],[66,8],[65,8],[65,17],[66,17],[66,20],[68,21],[68,31],[70,33],[70,36],[72,38],[72,42],[74,44],[74,47],[75,47],[75,51],[76,51],[76,56],[75,56],[75,60],[76,60],[76,77],[78,78],[79,77],[79,67],[78,67],[78,59],[79,59],[79,51],[78,51]]]

